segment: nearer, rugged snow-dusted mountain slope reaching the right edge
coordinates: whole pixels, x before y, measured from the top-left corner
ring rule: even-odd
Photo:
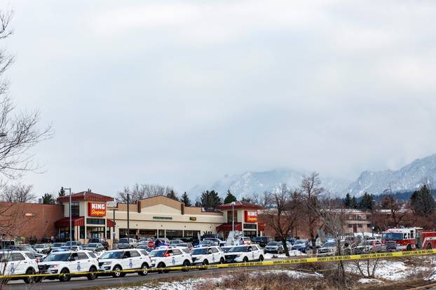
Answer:
[[[365,171],[348,186],[351,195],[360,196],[365,191],[381,194],[389,186],[392,191],[406,191],[419,188],[427,180],[436,181],[436,154],[416,159],[400,170]]]

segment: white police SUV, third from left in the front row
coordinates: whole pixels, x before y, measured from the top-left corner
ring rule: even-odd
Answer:
[[[154,267],[147,251],[137,249],[118,249],[107,251],[98,258],[100,271],[114,271],[109,273],[112,277],[124,277],[122,270],[139,270],[139,275],[147,275],[149,268]]]

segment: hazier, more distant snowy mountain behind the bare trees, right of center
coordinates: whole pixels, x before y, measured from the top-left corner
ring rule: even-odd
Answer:
[[[250,172],[247,171],[243,174],[229,175],[226,174],[224,178],[215,181],[210,186],[195,186],[191,188],[193,195],[200,195],[203,191],[214,190],[224,197],[228,190],[236,195],[236,198],[241,199],[252,195],[253,193],[264,193],[264,191],[271,191],[275,186],[280,183],[286,183],[289,188],[297,188],[301,184],[304,174],[308,172],[301,172],[297,170],[270,170],[266,172]],[[332,192],[334,195],[344,195],[350,181],[345,179],[336,179],[332,177],[323,177],[322,187],[327,191]]]

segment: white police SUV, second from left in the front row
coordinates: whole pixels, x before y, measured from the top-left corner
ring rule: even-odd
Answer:
[[[62,274],[48,276],[45,279],[58,278],[59,281],[66,282],[71,276],[86,276],[93,280],[97,278],[98,261],[95,254],[90,251],[58,251],[46,256],[38,267],[41,274]]]

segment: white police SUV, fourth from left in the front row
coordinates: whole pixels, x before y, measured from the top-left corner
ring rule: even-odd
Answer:
[[[191,254],[186,247],[166,247],[150,252],[151,263],[155,268],[189,266],[192,264]],[[162,271],[159,271],[162,272]],[[165,270],[168,272],[168,270]]]

